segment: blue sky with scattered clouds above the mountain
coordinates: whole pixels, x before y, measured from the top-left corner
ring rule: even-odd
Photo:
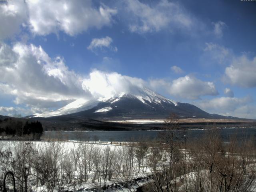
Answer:
[[[210,113],[256,118],[255,8],[240,0],[1,2],[0,114],[102,96],[100,77],[113,95],[125,78]]]

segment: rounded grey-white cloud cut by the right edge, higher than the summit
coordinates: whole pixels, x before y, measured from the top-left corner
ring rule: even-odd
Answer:
[[[246,88],[256,87],[256,57],[234,57],[225,74],[231,84]]]

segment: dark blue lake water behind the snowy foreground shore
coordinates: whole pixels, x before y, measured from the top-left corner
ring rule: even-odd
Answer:
[[[182,130],[177,131],[179,135],[186,139],[196,139],[204,136],[206,132],[211,130]],[[256,136],[256,128],[224,128],[213,130],[220,132],[224,142],[232,136],[236,136],[238,140]],[[66,140],[82,140],[82,141],[140,141],[144,139],[153,140],[158,138],[159,134],[164,134],[164,131],[49,131],[44,132],[43,139],[66,139]],[[256,137],[255,137],[256,138]]]

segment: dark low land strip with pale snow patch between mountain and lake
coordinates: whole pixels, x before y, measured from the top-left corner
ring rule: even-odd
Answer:
[[[8,116],[0,116],[12,118]],[[40,121],[44,131],[68,130],[68,131],[129,131],[129,130],[163,130],[166,127],[165,119],[90,119],[55,116],[51,118],[13,118],[22,122]],[[184,129],[212,129],[212,128],[256,128],[256,120],[240,118],[180,118],[178,119],[180,128]]]

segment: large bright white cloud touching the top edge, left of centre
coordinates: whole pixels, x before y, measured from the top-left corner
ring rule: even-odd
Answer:
[[[59,30],[74,36],[89,28],[100,29],[112,23],[117,10],[104,4],[96,8],[91,0],[28,0],[29,24],[34,34],[47,35]]]

